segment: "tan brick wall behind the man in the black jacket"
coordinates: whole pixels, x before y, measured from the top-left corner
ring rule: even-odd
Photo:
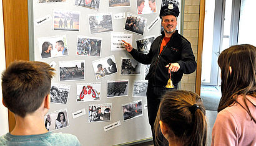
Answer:
[[[199,7],[200,0],[185,0],[183,35],[191,43],[191,47],[195,55],[195,60],[197,60]],[[195,91],[195,76],[196,71],[189,75],[184,75],[180,81],[180,89]]]

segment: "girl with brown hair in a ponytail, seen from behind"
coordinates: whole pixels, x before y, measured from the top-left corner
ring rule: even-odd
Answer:
[[[207,122],[200,96],[182,90],[165,93],[154,127],[157,145],[206,145]],[[160,142],[162,136],[167,142]]]

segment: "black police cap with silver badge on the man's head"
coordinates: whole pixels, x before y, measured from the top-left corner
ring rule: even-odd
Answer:
[[[176,4],[170,2],[169,4],[163,6],[160,10],[159,17],[162,19],[163,16],[173,15],[178,17],[180,14],[179,7]]]

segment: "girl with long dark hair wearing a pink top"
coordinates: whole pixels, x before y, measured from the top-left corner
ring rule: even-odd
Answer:
[[[218,64],[222,97],[212,145],[256,145],[256,47],[229,47]]]

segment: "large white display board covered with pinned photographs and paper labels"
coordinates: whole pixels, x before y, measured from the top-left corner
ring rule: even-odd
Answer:
[[[145,96],[132,97],[135,80],[144,80],[145,66],[140,65],[138,74],[121,75],[122,58],[132,57],[122,45],[117,44],[117,34],[121,34],[120,39],[127,40],[130,35],[124,34],[131,34],[134,48],[135,40],[159,36],[160,21],[155,24],[154,20],[159,16],[162,1],[156,0],[157,11],[152,13],[149,1],[145,0],[145,12],[140,15],[134,0],[121,1],[122,4],[118,4],[118,1],[109,4],[109,0],[39,1],[33,0],[32,6],[34,59],[49,63],[56,69],[52,83],[60,85],[52,87],[52,92],[57,88],[57,95],[66,94],[65,99],[52,98],[54,101],[49,113],[56,113],[51,119],[51,124],[56,124],[56,111],[64,110],[69,126],[54,132],[74,134],[82,145],[116,145],[152,137],[145,108],[147,99]],[[140,20],[146,20],[144,30],[140,28],[142,21],[137,21],[138,28],[134,26],[127,30],[127,14],[134,16],[134,19],[137,16]],[[150,24],[154,26],[148,30]],[[112,32],[117,34],[111,35]],[[112,40],[115,42],[113,46],[111,36],[116,37]],[[59,43],[56,42],[59,40],[64,43],[66,52],[57,50]],[[41,55],[44,42],[52,45],[51,57]],[[116,63],[116,68],[113,63],[109,65],[109,59]],[[97,70],[100,67],[106,71],[105,75]],[[62,86],[68,88],[62,89]],[[136,86],[140,87],[139,84]],[[130,109],[125,109],[129,106]],[[110,114],[110,117],[104,115],[97,121],[94,116],[97,107],[101,107],[102,114]],[[129,115],[134,112],[132,110],[139,114]]]

